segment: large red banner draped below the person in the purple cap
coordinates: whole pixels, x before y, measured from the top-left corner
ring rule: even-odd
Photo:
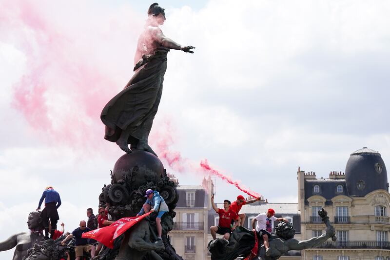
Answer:
[[[103,245],[113,248],[114,240],[125,233],[126,230],[137,224],[139,221],[149,216],[148,212],[139,217],[121,218],[107,227],[102,227],[82,234],[82,238],[94,239],[101,242]]]

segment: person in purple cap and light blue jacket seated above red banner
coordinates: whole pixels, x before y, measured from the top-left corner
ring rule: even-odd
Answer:
[[[158,191],[153,191],[151,189],[148,189],[145,192],[145,197],[147,197],[147,199],[143,204],[141,210],[137,214],[137,217],[145,213],[148,213],[149,211],[156,212],[157,213],[156,227],[158,233],[157,240],[162,240],[161,239],[161,234],[162,234],[161,217],[162,215],[164,215],[165,212],[169,211],[168,205],[167,203],[165,203],[164,199],[160,196]]]

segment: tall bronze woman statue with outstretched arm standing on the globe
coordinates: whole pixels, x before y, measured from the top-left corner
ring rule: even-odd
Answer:
[[[100,115],[105,124],[104,139],[116,142],[126,153],[133,149],[156,155],[148,144],[148,137],[161,99],[167,53],[170,49],[194,53],[191,49],[195,47],[182,46],[164,36],[158,28],[164,21],[164,8],[153,3],[148,10],[145,30],[137,43],[136,73],[106,104]]]

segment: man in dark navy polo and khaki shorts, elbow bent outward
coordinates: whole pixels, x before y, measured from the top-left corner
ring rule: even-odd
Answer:
[[[88,239],[82,238],[82,234],[91,231],[87,227],[87,222],[85,220],[80,221],[80,226],[73,230],[72,234],[69,234],[64,240],[61,241],[61,245],[65,245],[67,240],[75,238],[75,253],[76,260],[81,260],[82,256],[85,253],[91,251],[91,258],[95,257],[96,247],[88,243]]]

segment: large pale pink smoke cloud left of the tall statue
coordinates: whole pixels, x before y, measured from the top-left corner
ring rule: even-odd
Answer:
[[[12,106],[49,144],[106,149],[100,112],[133,76],[146,14],[88,0],[1,1],[0,10],[0,41],[25,58]]]

